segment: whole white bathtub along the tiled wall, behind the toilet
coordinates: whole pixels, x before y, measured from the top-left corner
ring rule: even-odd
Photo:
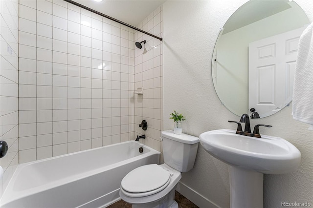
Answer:
[[[139,153],[143,147],[143,153]],[[1,208],[98,208],[119,199],[123,177],[138,166],[159,164],[160,153],[135,141],[21,164]]]

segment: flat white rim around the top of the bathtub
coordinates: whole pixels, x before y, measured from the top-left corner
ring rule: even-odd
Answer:
[[[66,178],[57,180],[56,182],[51,182],[51,183],[49,183],[47,185],[42,185],[42,186],[39,186],[39,187],[33,187],[33,188],[25,189],[25,190],[22,190],[22,191],[13,190],[14,181],[16,180],[16,177],[18,176],[18,174],[22,171],[23,167],[25,167],[25,166],[29,166],[29,165],[36,164],[36,163],[42,163],[42,162],[45,162],[45,161],[49,161],[49,160],[53,160],[53,159],[57,159],[57,158],[62,158],[62,157],[67,157],[67,156],[70,156],[70,155],[75,155],[75,154],[88,152],[88,151],[92,151],[92,150],[97,150],[97,149],[102,149],[102,148],[108,148],[108,147],[111,147],[111,146],[118,146],[118,145],[122,145],[122,144],[127,144],[127,143],[135,143],[135,144],[137,144],[139,146],[142,146],[142,147],[145,147],[145,148],[149,149],[150,151],[146,152],[145,154],[140,154],[140,155],[134,156],[132,158],[129,158],[129,159],[126,159],[126,160],[123,160],[123,161],[120,161],[120,162],[108,165],[108,166],[103,166],[103,167],[100,167],[100,168],[96,168],[94,170],[90,170],[90,171],[87,171],[87,172],[83,172],[83,173],[77,174],[71,180],[68,180],[69,177],[66,177]],[[107,146],[100,146],[100,147],[96,147],[96,148],[92,148],[92,149],[87,149],[87,150],[78,151],[78,152],[72,152],[72,153],[69,153],[69,154],[64,154],[64,155],[59,155],[59,156],[55,156],[55,157],[50,157],[50,158],[45,158],[45,159],[41,159],[41,160],[31,161],[31,162],[28,162],[28,163],[19,164],[18,167],[16,168],[16,170],[14,171],[14,173],[13,173],[9,183],[8,183],[8,186],[3,191],[2,197],[0,198],[0,205],[1,205],[0,207],[2,207],[2,205],[4,206],[4,205],[6,205],[6,204],[8,204],[10,202],[13,202],[15,200],[19,200],[19,199],[22,199],[24,197],[27,197],[29,195],[36,194],[36,193],[39,193],[41,191],[45,191],[45,190],[50,189],[50,188],[58,187],[60,185],[65,184],[65,182],[66,183],[72,183],[72,182],[75,182],[75,181],[78,181],[78,180],[81,180],[81,179],[85,178],[86,175],[92,176],[92,175],[95,175],[95,174],[98,174],[98,173],[102,172],[103,170],[111,170],[113,168],[116,168],[118,166],[126,164],[127,162],[130,162],[132,160],[133,161],[134,160],[138,160],[138,159],[142,158],[142,155],[145,155],[146,157],[148,157],[148,156],[151,156],[151,155],[154,155],[154,154],[160,154],[160,152],[155,150],[155,149],[153,149],[153,148],[151,148],[151,147],[149,147],[149,146],[146,146],[146,145],[144,145],[144,144],[142,144],[140,142],[137,142],[137,141],[134,141],[134,140],[130,140],[130,141],[126,141],[126,142],[116,143],[116,144],[107,145]]]

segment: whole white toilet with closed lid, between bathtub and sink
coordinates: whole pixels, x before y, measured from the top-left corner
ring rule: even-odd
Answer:
[[[167,130],[162,140],[164,164],[137,167],[121,182],[119,195],[132,208],[178,208],[174,196],[180,172],[193,168],[199,138]]]

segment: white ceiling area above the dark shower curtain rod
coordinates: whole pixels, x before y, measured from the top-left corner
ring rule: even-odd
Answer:
[[[132,26],[138,26],[166,0],[73,0]]]

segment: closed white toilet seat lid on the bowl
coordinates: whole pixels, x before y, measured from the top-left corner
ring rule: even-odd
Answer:
[[[169,184],[170,177],[167,170],[156,164],[140,166],[123,178],[121,187],[130,193],[161,191]]]

